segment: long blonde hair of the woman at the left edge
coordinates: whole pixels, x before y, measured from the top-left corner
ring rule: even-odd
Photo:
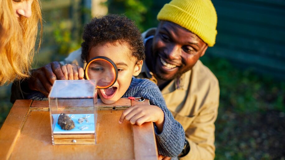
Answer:
[[[39,0],[31,6],[32,16],[15,17],[12,0],[0,1],[0,85],[29,76],[33,62],[38,27],[42,36],[42,16]],[[40,24],[40,25],[39,25]]]

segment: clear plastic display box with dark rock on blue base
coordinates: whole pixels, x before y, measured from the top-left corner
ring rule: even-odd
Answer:
[[[52,144],[96,144],[96,80],[56,80],[49,107]]]

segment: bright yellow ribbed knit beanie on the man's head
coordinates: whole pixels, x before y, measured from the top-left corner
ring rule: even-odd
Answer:
[[[209,47],[217,35],[217,14],[211,0],[172,0],[159,11],[158,20],[176,23],[197,36]]]

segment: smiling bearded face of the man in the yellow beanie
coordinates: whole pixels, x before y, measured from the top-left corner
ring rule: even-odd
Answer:
[[[162,80],[172,80],[192,69],[207,49],[197,35],[169,21],[161,21],[152,43],[152,68]]]

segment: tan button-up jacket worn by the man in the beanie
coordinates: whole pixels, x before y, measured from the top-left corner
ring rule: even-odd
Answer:
[[[152,28],[142,34],[143,38],[153,35]],[[80,61],[81,50],[69,55],[63,63],[73,63],[85,68]],[[152,73],[144,64],[139,78],[155,82]],[[190,144],[190,152],[180,159],[205,159],[215,157],[215,125],[219,106],[219,83],[215,75],[197,61],[191,71],[172,80],[161,93],[174,118],[181,123]]]

